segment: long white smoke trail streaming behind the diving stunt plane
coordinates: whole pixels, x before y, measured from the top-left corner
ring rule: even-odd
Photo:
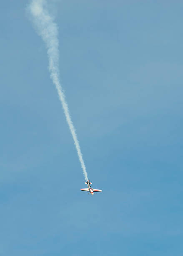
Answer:
[[[47,53],[49,59],[50,77],[53,80],[53,84],[55,84],[56,89],[58,91],[59,99],[62,103],[65,117],[69,125],[70,132],[73,136],[80,164],[83,169],[83,174],[85,176],[85,180],[87,181],[88,175],[86,172],[83,156],[81,154],[79,141],[75,132],[73,122],[70,117],[68,104],[65,100],[65,94],[63,92],[63,88],[60,84],[59,79],[58,27],[57,24],[53,21],[53,17],[51,17],[48,13],[48,10],[46,9],[46,4],[46,0],[32,0],[28,7],[28,10],[30,11],[32,17],[31,20],[35,25],[36,31],[43,38],[43,41],[46,44],[46,48],[48,49]]]

